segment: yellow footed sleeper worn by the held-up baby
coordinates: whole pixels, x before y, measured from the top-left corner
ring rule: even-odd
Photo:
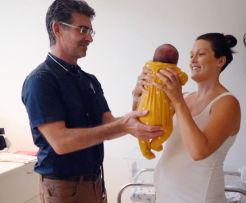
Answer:
[[[161,63],[149,61],[145,64],[146,67],[152,70],[152,77],[155,82],[163,85],[163,82],[156,76],[156,73],[162,68],[172,68],[179,76],[181,85],[184,85],[188,76],[182,72],[175,64]],[[171,102],[165,92],[155,86],[147,86],[147,92],[143,93],[138,103],[137,110],[148,110],[146,116],[140,117],[139,120],[146,125],[162,126],[164,134],[153,138],[151,141],[147,139],[139,139],[139,146],[143,156],[147,159],[155,158],[155,151],[163,149],[162,144],[170,136],[173,130],[173,110]]]

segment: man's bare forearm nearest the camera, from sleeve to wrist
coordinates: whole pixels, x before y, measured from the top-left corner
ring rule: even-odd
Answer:
[[[126,134],[119,119],[92,128],[66,128],[63,122],[58,122],[46,124],[40,130],[58,154],[85,149]]]

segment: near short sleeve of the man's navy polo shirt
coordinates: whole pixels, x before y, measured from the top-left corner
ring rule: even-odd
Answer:
[[[47,72],[39,72],[26,78],[22,88],[22,101],[32,128],[65,120],[59,86],[55,78]]]

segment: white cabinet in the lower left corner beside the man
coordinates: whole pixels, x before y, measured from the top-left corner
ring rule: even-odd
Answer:
[[[34,164],[0,160],[0,203],[39,203],[39,176],[33,171]]]

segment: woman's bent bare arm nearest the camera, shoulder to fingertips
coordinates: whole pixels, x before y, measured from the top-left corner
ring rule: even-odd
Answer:
[[[203,129],[194,122],[182,95],[178,76],[172,70],[158,74],[164,81],[160,87],[172,101],[183,142],[194,160],[201,160],[216,151],[223,142],[235,135],[240,128],[240,105],[235,97],[225,96],[212,107],[208,122]],[[165,130],[165,129],[164,129]]]

